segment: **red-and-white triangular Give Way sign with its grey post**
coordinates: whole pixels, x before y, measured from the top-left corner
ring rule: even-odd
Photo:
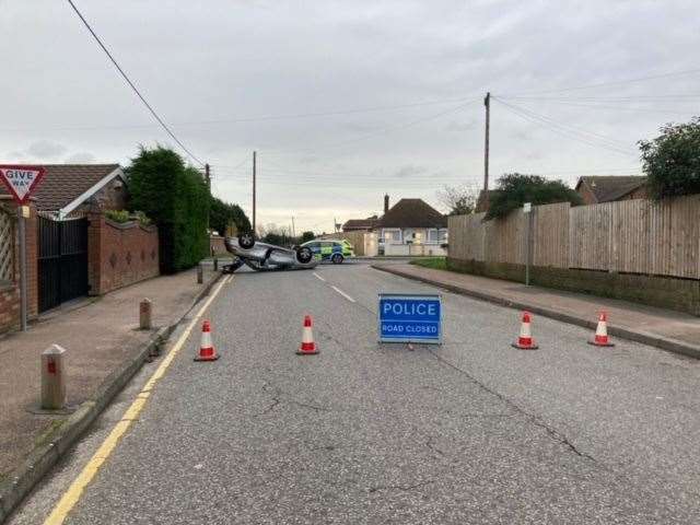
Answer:
[[[20,324],[22,331],[26,331],[27,299],[26,299],[26,224],[30,217],[30,201],[32,191],[44,178],[42,166],[21,166],[15,164],[0,165],[0,178],[12,194],[18,205],[18,235],[20,237]]]

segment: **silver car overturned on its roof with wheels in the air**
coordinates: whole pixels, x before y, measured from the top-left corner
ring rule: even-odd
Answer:
[[[243,265],[255,271],[314,268],[319,260],[308,246],[283,248],[255,240],[253,233],[242,233],[237,237],[224,240],[226,250],[234,255],[233,262],[224,266],[224,271],[233,273]]]

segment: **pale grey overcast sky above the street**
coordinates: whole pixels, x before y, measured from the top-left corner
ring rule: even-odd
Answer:
[[[212,192],[296,233],[504,173],[641,173],[700,114],[696,1],[74,0]],[[62,0],[0,0],[0,162],[177,145]],[[188,162],[199,165],[178,150]],[[444,208],[441,208],[444,211]]]

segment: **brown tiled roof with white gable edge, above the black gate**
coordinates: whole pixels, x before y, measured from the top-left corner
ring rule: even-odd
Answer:
[[[58,211],[88,200],[109,179],[124,177],[119,164],[42,164],[46,170],[44,179],[34,192],[36,209]],[[7,195],[0,184],[0,195]],[[78,202],[75,202],[80,199]],[[66,212],[72,211],[72,209]]]

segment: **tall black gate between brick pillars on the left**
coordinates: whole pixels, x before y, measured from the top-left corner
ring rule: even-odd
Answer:
[[[39,312],[88,294],[88,219],[38,218]]]

